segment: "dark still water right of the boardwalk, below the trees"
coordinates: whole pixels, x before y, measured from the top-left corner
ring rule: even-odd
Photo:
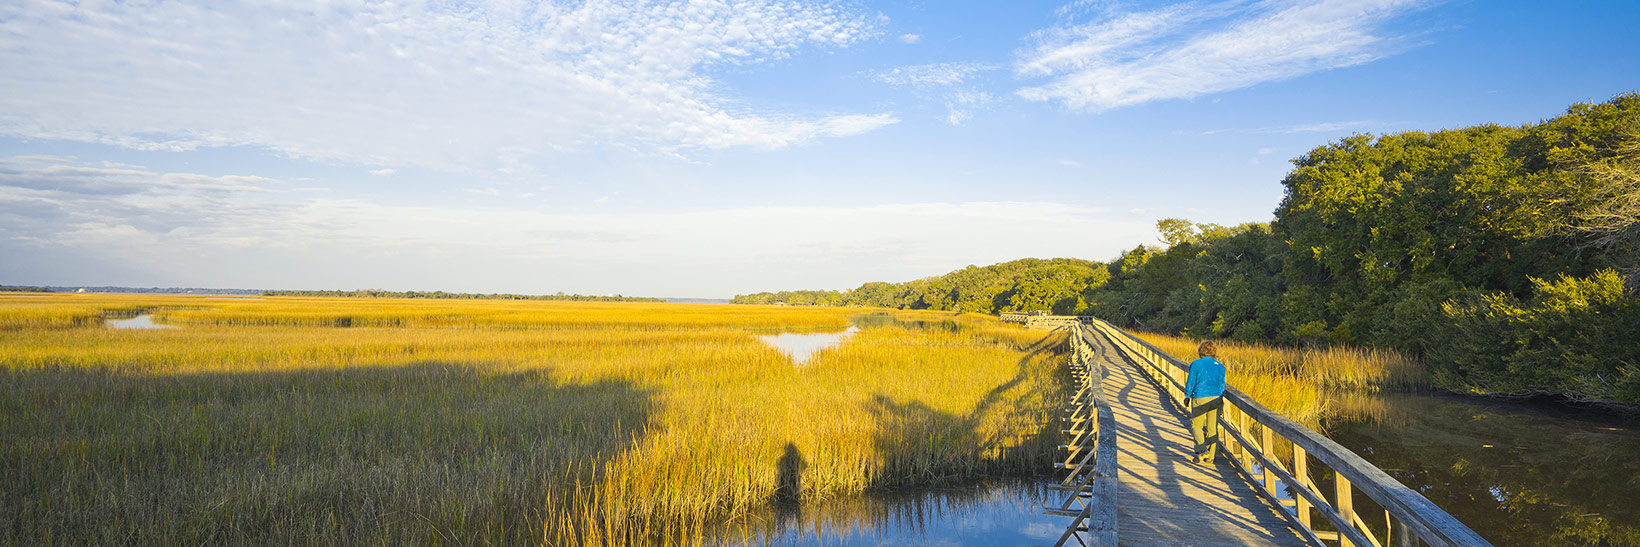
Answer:
[[[1640,545],[1640,419],[1446,395],[1353,395],[1327,436],[1496,545]]]

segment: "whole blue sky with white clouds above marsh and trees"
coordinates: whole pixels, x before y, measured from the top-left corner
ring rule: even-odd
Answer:
[[[0,5],[0,283],[730,296],[1268,221],[1640,90],[1637,2]]]

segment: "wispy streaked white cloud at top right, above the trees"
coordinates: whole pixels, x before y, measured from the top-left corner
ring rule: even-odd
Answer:
[[[1087,2],[1061,10],[1089,11]],[[1381,36],[1389,20],[1428,0],[1187,2],[1148,11],[1107,8],[1087,23],[1033,34],[1015,64],[1048,82],[1018,90],[1036,102],[1104,111],[1194,98],[1356,66],[1405,47]]]

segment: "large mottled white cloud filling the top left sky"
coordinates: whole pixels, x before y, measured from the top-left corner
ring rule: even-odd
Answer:
[[[0,134],[528,172],[554,151],[777,149],[891,115],[753,111],[712,70],[872,36],[795,0],[0,5]]]

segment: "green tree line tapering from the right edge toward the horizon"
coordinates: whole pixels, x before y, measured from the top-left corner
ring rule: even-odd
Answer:
[[[1015,260],[736,296],[1051,310],[1199,337],[1422,355],[1437,385],[1640,403],[1640,95],[1525,126],[1356,134],[1294,160],[1273,223],[1164,219],[1110,264]]]

